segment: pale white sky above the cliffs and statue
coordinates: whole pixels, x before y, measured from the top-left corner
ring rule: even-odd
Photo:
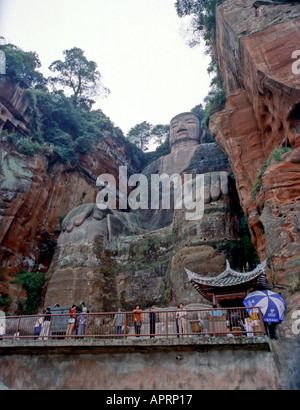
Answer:
[[[0,0],[0,35],[36,51],[47,77],[63,50],[79,47],[111,90],[97,100],[124,134],[142,121],[169,124],[203,103],[209,57],[189,48],[175,0]]]

